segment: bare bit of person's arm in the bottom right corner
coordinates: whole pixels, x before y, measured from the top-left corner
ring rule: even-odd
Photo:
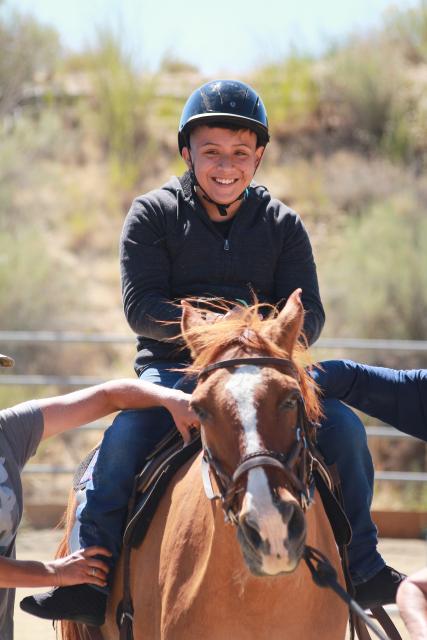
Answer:
[[[427,638],[427,569],[406,578],[397,591],[400,615],[411,640]]]

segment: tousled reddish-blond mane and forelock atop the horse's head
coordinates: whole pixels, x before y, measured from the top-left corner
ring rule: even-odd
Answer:
[[[189,300],[189,302],[192,301]],[[317,386],[306,370],[311,360],[304,334],[300,335],[292,353],[288,353],[267,335],[268,329],[278,315],[276,307],[258,302],[248,307],[233,303],[230,312],[230,303],[215,300],[209,303],[209,308],[225,317],[220,322],[194,323],[191,328],[183,331],[184,340],[189,340],[193,346],[196,346],[193,353],[194,361],[186,368],[186,372],[197,375],[208,364],[218,360],[222,353],[232,351],[233,348],[234,356],[243,352],[248,355],[257,353],[275,358],[287,358],[292,361],[298,372],[308,418],[318,422],[322,411]],[[229,312],[228,315],[226,315],[227,312]],[[203,314],[203,312],[199,313]]]

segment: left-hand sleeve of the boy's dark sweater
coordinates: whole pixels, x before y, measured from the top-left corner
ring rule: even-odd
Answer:
[[[171,264],[164,213],[135,200],[120,239],[123,306],[131,329],[159,341],[177,342],[181,309],[171,300]]]

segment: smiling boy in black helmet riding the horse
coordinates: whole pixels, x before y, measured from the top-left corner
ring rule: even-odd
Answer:
[[[136,198],[121,238],[123,303],[138,334],[135,370],[141,379],[172,387],[182,377],[177,369],[190,358],[176,337],[181,317],[176,302],[183,298],[197,298],[201,306],[215,297],[250,304],[255,293],[260,302],[280,306],[301,288],[307,341],[319,337],[325,315],[304,225],[266,187],[252,182],[268,141],[264,105],[247,84],[209,82],[187,100],[178,146],[188,171]],[[220,320],[209,310],[206,315],[212,322]],[[352,465],[346,506],[353,525],[353,578],[364,582],[385,571],[379,597],[394,600],[397,587],[376,551],[369,515],[373,467],[363,425],[336,400],[326,401],[324,408],[321,444],[327,449],[334,442],[338,453],[345,451],[340,460],[334,451],[328,462],[346,471]],[[94,490],[80,514],[80,543],[102,541],[112,552],[111,566],[120,553],[133,476],[170,428],[162,411],[123,412],[105,434]],[[375,591],[378,598],[377,585]],[[86,599],[83,611],[62,589],[43,603],[35,599],[31,612],[52,619],[92,616],[92,624],[102,624],[105,607],[106,596],[102,607]]]

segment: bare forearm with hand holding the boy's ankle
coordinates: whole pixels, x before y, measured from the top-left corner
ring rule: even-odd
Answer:
[[[0,557],[0,588],[63,587],[94,584],[105,587],[108,565],[95,558],[111,553],[103,547],[88,547],[49,562]]]

